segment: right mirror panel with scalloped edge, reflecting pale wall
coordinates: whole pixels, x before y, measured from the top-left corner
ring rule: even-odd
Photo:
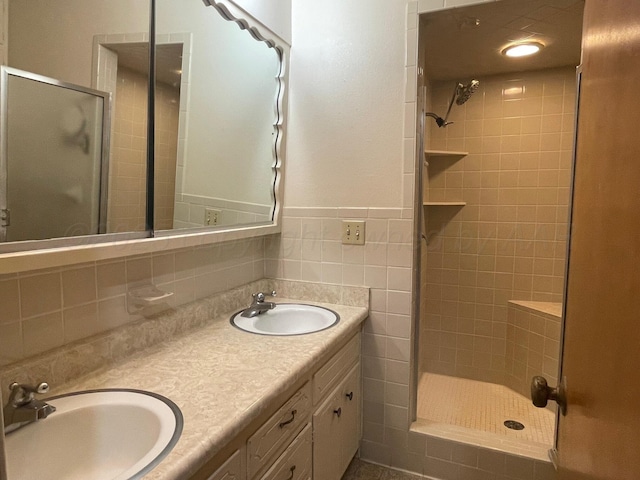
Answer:
[[[272,221],[281,51],[190,0],[158,0],[157,32],[156,228]]]

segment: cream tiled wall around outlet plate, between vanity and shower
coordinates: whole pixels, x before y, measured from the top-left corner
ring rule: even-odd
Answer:
[[[267,276],[371,287],[362,363],[362,455],[406,458],[411,355],[411,209],[285,208],[266,246]],[[365,245],[342,245],[343,219],[366,221]],[[406,465],[396,464],[396,466]]]

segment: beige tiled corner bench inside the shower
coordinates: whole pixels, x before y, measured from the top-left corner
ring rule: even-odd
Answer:
[[[509,388],[528,397],[535,375],[557,385],[561,319],[560,303],[509,302],[505,379]]]

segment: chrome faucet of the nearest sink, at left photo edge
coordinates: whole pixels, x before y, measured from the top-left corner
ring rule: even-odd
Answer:
[[[11,390],[11,394],[3,412],[5,433],[16,430],[25,423],[47,418],[56,411],[56,407],[53,405],[35,398],[36,393],[49,391],[49,384],[46,382],[36,386],[13,382],[9,385],[9,390]]]

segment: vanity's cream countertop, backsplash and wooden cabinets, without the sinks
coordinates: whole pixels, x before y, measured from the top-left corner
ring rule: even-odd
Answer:
[[[293,336],[232,326],[231,315],[248,304],[246,291],[264,282],[288,296],[278,302],[323,306],[340,321]],[[261,280],[178,307],[4,369],[0,381],[44,378],[51,395],[139,389],[175,402],[182,435],[145,479],[339,480],[361,437],[360,332],[368,289],[320,286],[324,292],[309,295],[317,286],[293,283]],[[193,326],[197,317],[201,325]],[[73,372],[105,350],[117,358],[82,376]]]

